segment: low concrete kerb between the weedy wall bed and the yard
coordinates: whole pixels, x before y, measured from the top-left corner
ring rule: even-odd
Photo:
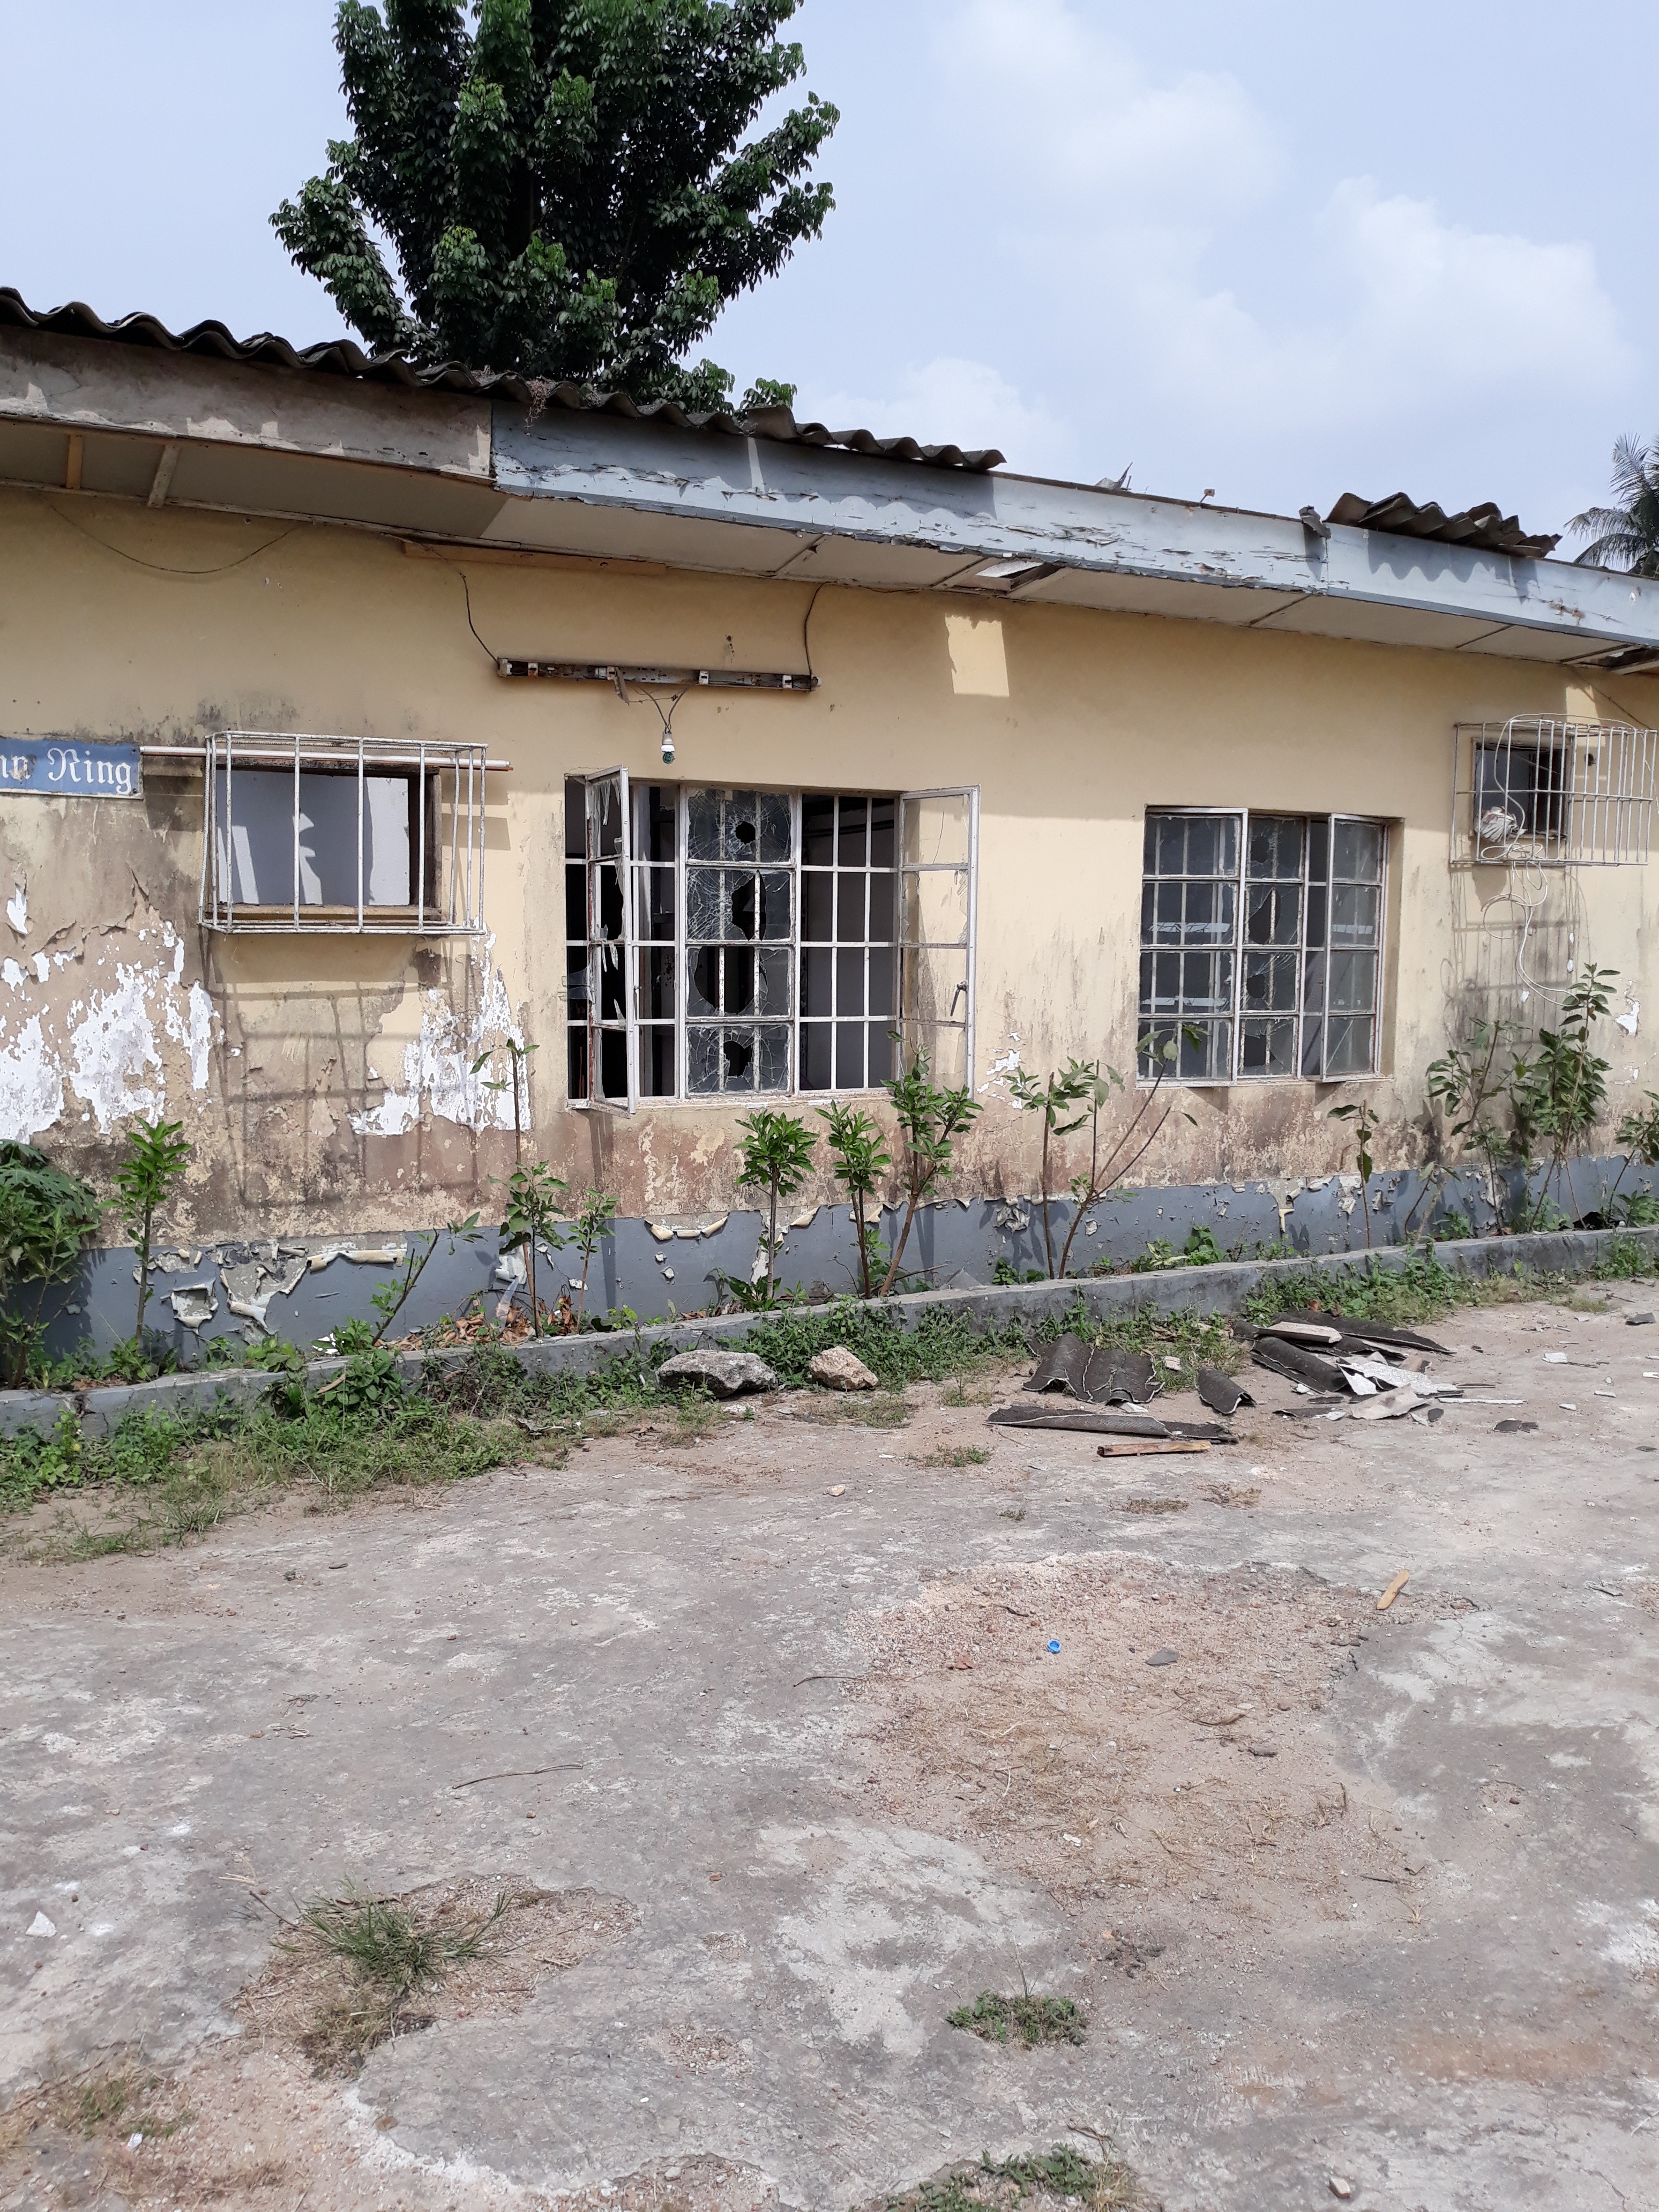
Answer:
[[[1449,1274],[1590,1274],[1597,1261],[1606,1259],[1615,1243],[1635,1243],[1646,1252],[1648,1263],[1659,1254],[1659,1228],[1635,1230],[1559,1230],[1531,1237],[1467,1237],[1455,1243],[1436,1243],[1431,1250]],[[872,1312],[891,1327],[918,1329],[929,1316],[958,1316],[975,1323],[982,1332],[1033,1329],[1044,1321],[1057,1321],[1077,1305],[1095,1321],[1121,1318],[1128,1314],[1237,1314],[1243,1301],[1283,1276],[1314,1274],[1340,1279],[1356,1270],[1376,1267],[1383,1274],[1400,1274],[1420,1259],[1427,1245],[1383,1245],[1374,1252],[1329,1252],[1310,1259],[1276,1261],[1223,1261],[1214,1267],[1166,1267],[1152,1274],[1071,1276],[1064,1283],[1009,1283],[998,1290],[920,1290],[902,1298],[883,1298]],[[827,1314],[832,1307],[792,1307],[796,1314]],[[641,1358],[655,1371],[675,1352],[695,1352],[706,1345],[743,1343],[754,1329],[754,1314],[721,1314],[710,1321],[677,1321],[637,1332],[602,1329],[584,1336],[544,1336],[526,1345],[513,1345],[511,1356],[526,1374],[586,1376],[602,1374],[615,1360]],[[456,1367],[471,1354],[449,1352],[405,1352],[398,1367],[407,1383],[420,1383],[422,1374],[438,1365]],[[310,1360],[305,1367],[307,1387],[316,1389],[341,1374],[345,1360]],[[84,1436],[108,1436],[128,1413],[210,1413],[215,1407],[234,1405],[252,1409],[270,1389],[270,1374],[250,1367],[223,1367],[208,1374],[161,1376],[155,1383],[104,1385],[86,1391],[0,1391],[0,1436],[20,1436],[33,1429],[51,1433],[64,1413],[80,1416]]]

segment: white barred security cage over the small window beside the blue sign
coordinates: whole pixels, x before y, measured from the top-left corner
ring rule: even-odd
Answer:
[[[204,770],[201,925],[234,936],[484,931],[484,745],[215,730],[148,752]]]

